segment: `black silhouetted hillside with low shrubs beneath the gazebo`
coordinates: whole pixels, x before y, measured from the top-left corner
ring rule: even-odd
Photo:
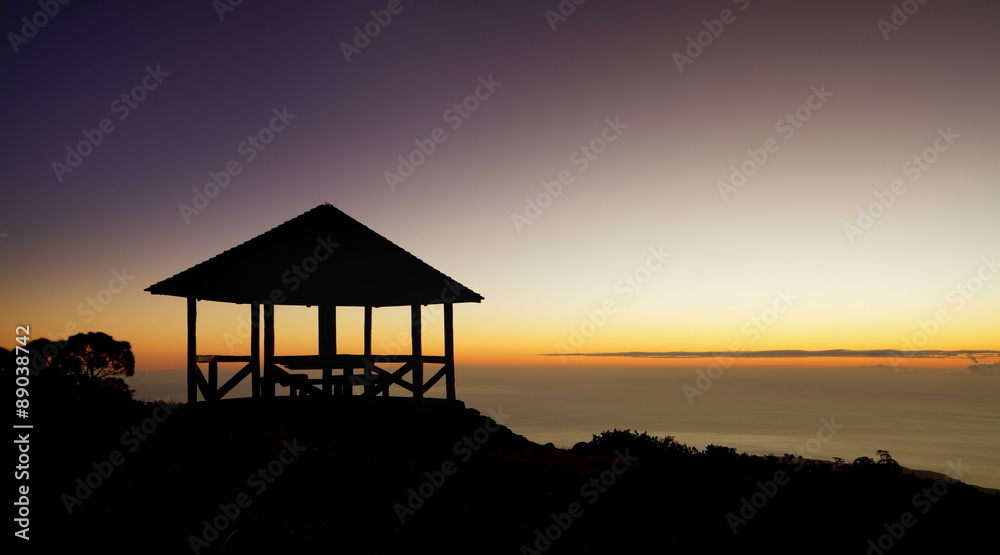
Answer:
[[[435,400],[165,406],[114,381],[130,357],[53,358],[33,378],[39,552],[961,553],[1000,516],[1000,497],[886,451],[758,457],[631,430],[565,450]]]

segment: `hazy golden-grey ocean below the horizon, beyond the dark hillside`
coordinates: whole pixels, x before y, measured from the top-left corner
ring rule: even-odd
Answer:
[[[460,364],[456,382],[466,406],[492,409],[514,432],[557,447],[617,428],[754,455],[851,462],[878,459],[882,449],[908,468],[953,474],[959,468],[963,482],[1000,488],[1000,377],[960,366],[737,361],[712,375],[706,366]],[[228,375],[220,372],[220,382]],[[140,399],[185,399],[183,371],[137,371],[129,383]],[[432,396],[442,391],[436,387]]]

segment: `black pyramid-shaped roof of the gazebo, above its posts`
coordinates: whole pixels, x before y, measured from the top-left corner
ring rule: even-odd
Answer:
[[[483,297],[330,204],[146,288],[230,303],[406,306]]]

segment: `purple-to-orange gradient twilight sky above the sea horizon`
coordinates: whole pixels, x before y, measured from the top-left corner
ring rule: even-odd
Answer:
[[[484,296],[456,307],[461,362],[995,350],[998,23],[971,0],[5,2],[0,345],[103,331],[180,368],[184,300],[143,289],[329,202]],[[199,350],[247,352],[247,313],[202,303]],[[315,352],[315,308],[277,319],[279,354]],[[378,351],[406,309],[375,321]]]

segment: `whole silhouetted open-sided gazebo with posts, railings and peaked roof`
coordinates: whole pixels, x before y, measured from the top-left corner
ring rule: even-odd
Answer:
[[[274,229],[183,272],[149,286],[154,295],[187,299],[188,402],[223,398],[247,377],[254,397],[274,397],[276,386],[289,395],[389,395],[392,385],[422,399],[442,378],[446,397],[455,396],[452,307],[483,297],[432,268],[337,208],[322,204]],[[197,304],[200,300],[250,305],[249,355],[199,355]],[[441,304],[444,355],[423,354],[421,306]],[[315,306],[319,313],[316,355],[278,356],[274,352],[275,305]],[[364,307],[364,353],[337,350],[337,307]],[[412,352],[372,353],[372,309],[409,306]],[[260,326],[264,341],[261,360]],[[245,365],[221,386],[219,363]],[[208,376],[201,364],[208,365]],[[383,366],[400,364],[387,370]],[[430,379],[424,366],[440,365]],[[292,373],[313,370],[321,374]],[[360,370],[360,374],[355,374]],[[263,372],[262,372],[263,371]],[[407,378],[409,377],[409,381]]]

